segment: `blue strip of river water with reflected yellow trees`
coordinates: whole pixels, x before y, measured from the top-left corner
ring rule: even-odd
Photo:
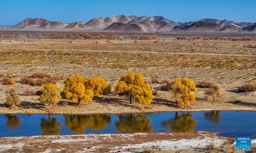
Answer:
[[[111,119],[109,119],[109,117]],[[45,118],[43,124],[42,119]],[[71,119],[70,119],[71,118]],[[73,120],[74,118],[74,120]],[[50,119],[50,121],[49,121]],[[69,119],[69,122],[67,121]],[[20,121],[21,120],[21,121]],[[155,113],[147,115],[82,115],[80,118],[46,114],[0,114],[0,137],[29,136],[44,133],[75,135],[111,134],[122,132],[221,132],[219,135],[236,137],[237,134],[251,134],[256,137],[256,112],[192,112]],[[40,124],[44,127],[40,127]],[[61,124],[61,125],[60,125]],[[80,127],[82,126],[82,127]],[[80,128],[77,129],[77,128]],[[60,132],[59,132],[60,129]],[[47,130],[52,130],[47,132]]]

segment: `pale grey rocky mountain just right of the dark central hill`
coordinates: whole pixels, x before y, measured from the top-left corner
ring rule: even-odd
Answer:
[[[169,23],[166,23],[160,20],[151,20],[151,21],[144,20],[140,22],[138,25],[140,25],[142,28],[144,28],[147,31],[156,31],[156,30],[171,31],[173,29],[173,27]]]

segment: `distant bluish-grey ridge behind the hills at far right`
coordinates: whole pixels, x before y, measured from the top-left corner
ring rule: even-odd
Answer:
[[[226,27],[226,26],[230,26],[230,25],[235,25],[235,26],[238,26],[238,27],[246,27],[246,26],[249,26],[249,25],[252,25],[253,23],[249,22],[234,22],[234,21],[228,21],[228,20],[218,20],[218,19],[212,19],[212,18],[204,18],[204,19],[201,19],[200,21],[203,21],[203,22],[211,22],[211,23],[217,23],[223,27]]]

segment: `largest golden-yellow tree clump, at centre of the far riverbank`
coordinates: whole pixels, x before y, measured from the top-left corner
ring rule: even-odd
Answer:
[[[141,110],[144,105],[149,105],[154,98],[151,88],[148,84],[144,83],[142,74],[127,73],[120,78],[115,87],[119,96],[126,96],[130,98],[130,104],[135,102],[138,98],[141,104]]]

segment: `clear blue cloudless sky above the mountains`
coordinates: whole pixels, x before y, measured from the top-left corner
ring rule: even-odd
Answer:
[[[71,23],[120,14],[161,15],[175,22],[256,22],[256,0],[0,0],[0,6],[0,25],[16,25],[28,17]]]

